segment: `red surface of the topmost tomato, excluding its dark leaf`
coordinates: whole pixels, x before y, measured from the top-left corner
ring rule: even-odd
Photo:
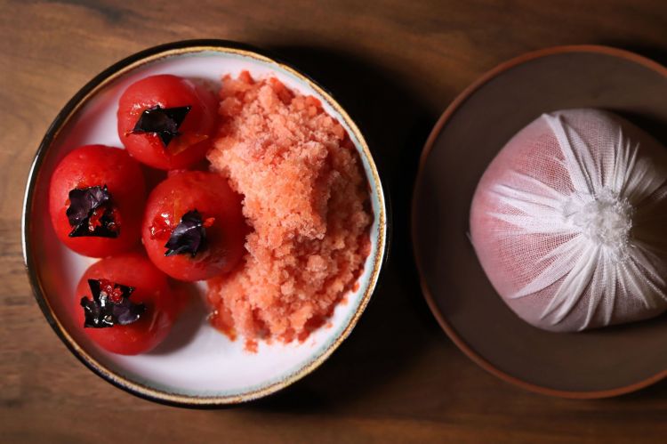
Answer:
[[[133,133],[147,109],[191,107],[165,147],[156,133]],[[217,121],[215,95],[201,85],[172,75],[146,77],[130,85],[118,102],[118,136],[131,156],[162,170],[187,168],[204,159]]]

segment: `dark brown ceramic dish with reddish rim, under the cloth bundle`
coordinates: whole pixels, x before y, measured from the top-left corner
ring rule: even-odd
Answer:
[[[414,188],[414,255],[446,334],[494,375],[534,392],[603,398],[667,376],[667,316],[584,333],[542,331],[496,295],[467,237],[470,200],[499,149],[542,112],[614,111],[667,142],[667,69],[632,52],[561,46],[503,63],[446,109]]]

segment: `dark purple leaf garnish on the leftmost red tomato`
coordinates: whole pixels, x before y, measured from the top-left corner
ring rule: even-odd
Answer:
[[[96,238],[117,238],[119,227],[112,216],[111,194],[107,185],[103,187],[89,187],[69,191],[69,206],[65,211],[72,230],[70,238],[84,236]],[[90,230],[89,222],[95,210],[103,211],[100,217],[100,226]]]

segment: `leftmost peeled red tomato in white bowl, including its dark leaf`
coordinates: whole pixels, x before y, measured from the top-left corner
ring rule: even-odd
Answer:
[[[125,149],[84,145],[53,171],[49,211],[62,243],[92,257],[125,252],[141,236],[146,185]]]

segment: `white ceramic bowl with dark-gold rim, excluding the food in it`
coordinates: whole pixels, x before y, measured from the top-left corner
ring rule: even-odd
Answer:
[[[73,328],[68,306],[85,268],[94,262],[68,250],[55,237],[48,214],[48,184],[55,165],[69,150],[88,143],[121,147],[116,111],[121,93],[142,77],[169,73],[219,81],[247,69],[253,77],[275,76],[289,88],[319,99],[345,127],[358,149],[369,182],[374,222],[371,253],[358,289],[336,307],[330,327],[304,343],[244,350],[210,327],[202,306],[192,304],[155,351],[120,356],[101,351]],[[350,335],[373,293],[386,249],[387,215],[373,158],[357,125],[320,86],[295,69],[242,44],[186,41],[165,44],[119,61],[84,88],[60,111],[37,150],[23,210],[23,252],[36,300],[60,339],[78,359],[110,383],[150,400],[188,406],[234,404],[277,392],[319,366]]]

